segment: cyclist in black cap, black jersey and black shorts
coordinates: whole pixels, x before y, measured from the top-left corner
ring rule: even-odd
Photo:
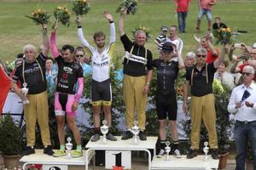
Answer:
[[[174,82],[177,79],[177,72],[184,67],[183,58],[173,50],[172,42],[165,42],[161,49],[163,59],[154,59],[152,66],[157,72],[156,88],[156,111],[160,122],[160,153],[158,157],[165,154],[166,146],[166,116],[171,127],[174,155],[180,157],[177,139],[177,100],[174,88]],[[175,52],[174,52],[175,51]]]

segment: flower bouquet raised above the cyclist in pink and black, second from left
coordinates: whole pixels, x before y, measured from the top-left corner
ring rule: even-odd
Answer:
[[[58,22],[61,22],[62,25],[64,26],[69,26],[70,24],[70,12],[68,8],[66,7],[57,7],[54,10],[54,16],[55,16],[55,24]],[[54,26],[55,26],[54,24]]]

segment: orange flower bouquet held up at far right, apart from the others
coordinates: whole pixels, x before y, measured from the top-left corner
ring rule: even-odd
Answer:
[[[213,32],[214,37],[217,38],[216,44],[231,43],[232,41],[232,29],[231,28],[220,28]]]

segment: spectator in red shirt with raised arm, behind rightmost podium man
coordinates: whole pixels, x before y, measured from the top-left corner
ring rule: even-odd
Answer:
[[[209,34],[205,37],[201,37],[201,47],[207,49],[207,63],[212,63],[218,59],[218,48],[212,45]]]

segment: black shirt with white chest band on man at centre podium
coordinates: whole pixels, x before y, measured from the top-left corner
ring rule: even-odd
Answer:
[[[125,58],[123,61],[124,74],[131,77],[141,77],[147,74],[147,70],[152,70],[150,65],[152,61],[151,51],[147,48],[137,46],[124,34],[120,37],[125,48]]]

